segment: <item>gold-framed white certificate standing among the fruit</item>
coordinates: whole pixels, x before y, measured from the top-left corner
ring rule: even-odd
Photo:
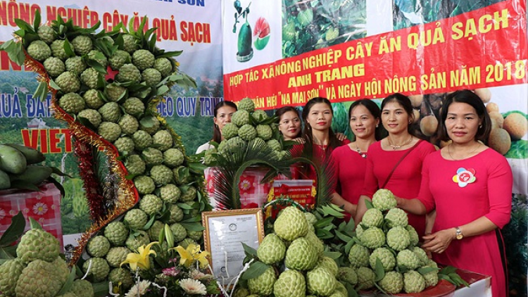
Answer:
[[[242,243],[257,249],[264,239],[264,220],[260,208],[215,210],[201,213],[203,242],[210,253],[213,274],[222,285],[237,277],[246,258]]]

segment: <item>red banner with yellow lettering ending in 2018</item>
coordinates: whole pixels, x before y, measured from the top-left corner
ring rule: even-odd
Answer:
[[[224,75],[225,98],[257,108],[528,82],[525,1],[378,34]]]

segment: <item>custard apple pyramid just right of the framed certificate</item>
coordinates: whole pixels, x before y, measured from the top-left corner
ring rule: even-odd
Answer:
[[[310,213],[303,214],[293,206],[284,208],[275,220],[275,233],[266,235],[256,251],[259,263],[268,267],[250,278],[247,288],[239,287],[235,296],[248,291],[255,296],[348,296],[337,280],[337,263],[323,255],[324,246],[314,233],[313,219]]]

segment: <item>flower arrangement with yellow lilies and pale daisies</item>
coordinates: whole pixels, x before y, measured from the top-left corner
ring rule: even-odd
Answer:
[[[167,242],[151,242],[129,253],[123,265],[135,272],[135,284],[120,292],[113,284],[114,296],[171,297],[212,296],[220,293],[218,283],[210,274],[209,253],[197,244],[169,248]]]

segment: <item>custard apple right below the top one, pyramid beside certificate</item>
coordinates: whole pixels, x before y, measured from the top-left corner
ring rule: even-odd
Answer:
[[[310,270],[315,267],[318,258],[315,246],[313,246],[306,238],[299,237],[289,245],[286,251],[284,264],[289,269]]]

